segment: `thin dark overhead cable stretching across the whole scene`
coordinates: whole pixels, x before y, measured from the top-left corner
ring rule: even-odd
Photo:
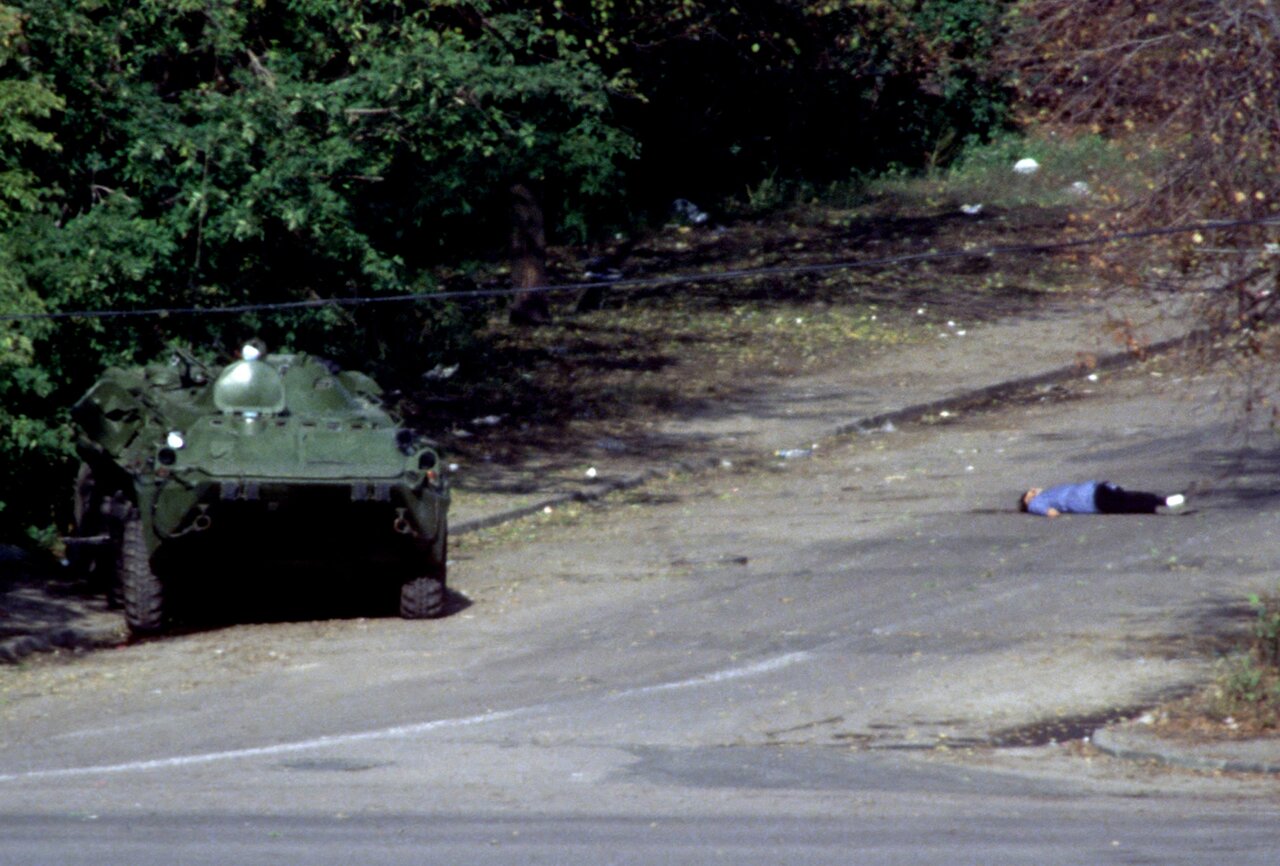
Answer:
[[[899,256],[884,256],[879,258],[860,258],[836,262],[815,262],[806,265],[773,265],[769,267],[744,267],[716,272],[675,274],[669,276],[648,276],[620,280],[589,280],[581,283],[558,283],[553,285],[539,285],[526,289],[466,289],[456,292],[421,292],[415,294],[396,295],[352,295],[347,298],[314,298],[310,301],[284,301],[273,303],[243,303],[225,307],[150,307],[145,310],[73,310],[42,313],[0,313],[0,321],[40,321],[59,319],[140,319],[161,316],[228,316],[250,312],[278,312],[288,310],[317,310],[324,307],[362,307],[384,303],[413,303],[422,301],[460,301],[468,298],[497,298],[516,294],[554,294],[567,292],[581,292],[584,289],[608,290],[635,290],[680,285],[685,283],[727,283],[759,276],[796,276],[804,274],[826,274],[842,270],[884,269],[900,265],[915,265],[929,261],[943,261],[950,258],[982,258],[992,256],[1018,256],[1033,253],[1052,253],[1064,249],[1080,247],[1098,247],[1123,240],[1142,240],[1146,238],[1166,237],[1174,234],[1190,234],[1194,232],[1222,232],[1226,229],[1244,228],[1249,225],[1280,224],[1280,215],[1254,217],[1245,220],[1210,220],[1203,223],[1188,223],[1183,225],[1166,225],[1148,229],[1134,229],[1132,232],[1115,232],[1111,234],[1093,235],[1089,238],[1076,238],[1073,240],[1053,240],[1020,244],[996,244],[977,247],[972,249],[942,249],[919,253],[905,253]]]

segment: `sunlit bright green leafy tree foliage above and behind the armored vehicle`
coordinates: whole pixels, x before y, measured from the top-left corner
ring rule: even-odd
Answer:
[[[4,312],[428,290],[433,266],[499,246],[512,179],[585,225],[635,152],[611,82],[521,4],[0,9]],[[173,340],[225,348],[250,327],[362,366],[430,366],[467,333],[443,304],[9,327],[0,485],[47,473],[63,453],[50,407],[104,363]]]

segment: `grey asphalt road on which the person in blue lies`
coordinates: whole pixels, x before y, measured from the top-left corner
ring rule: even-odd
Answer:
[[[1149,372],[461,544],[444,620],[0,670],[0,863],[1274,863],[1274,779],[1078,741],[1276,582],[1271,440]],[[1190,504],[1012,509],[1087,477]]]

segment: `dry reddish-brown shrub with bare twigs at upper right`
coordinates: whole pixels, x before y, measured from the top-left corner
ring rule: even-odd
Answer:
[[[1023,118],[1121,141],[1155,164],[1144,194],[1079,224],[1230,226],[1117,248],[1162,290],[1207,293],[1204,324],[1274,359],[1280,297],[1280,0],[1027,0],[1002,63]],[[1114,266],[1115,256],[1108,264]],[[1162,265],[1162,267],[1160,266]]]

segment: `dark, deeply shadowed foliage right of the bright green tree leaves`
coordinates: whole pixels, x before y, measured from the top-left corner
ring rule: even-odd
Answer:
[[[1006,0],[556,0],[543,18],[634,90],[637,191],[741,193],[955,156],[1005,120]]]

